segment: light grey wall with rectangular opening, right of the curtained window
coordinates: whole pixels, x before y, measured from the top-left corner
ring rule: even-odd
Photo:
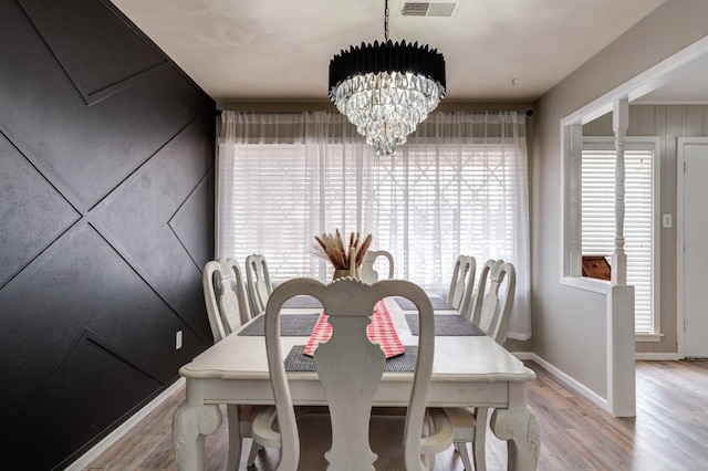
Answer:
[[[708,1],[667,0],[534,104],[530,153],[533,349],[603,398],[607,396],[605,295],[560,282],[560,121],[708,35],[707,19]]]

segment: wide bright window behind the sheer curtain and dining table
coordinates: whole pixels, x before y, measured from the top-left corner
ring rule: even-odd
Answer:
[[[394,254],[396,276],[439,293],[460,253],[480,264],[519,259],[520,176],[501,148],[412,144],[367,175],[340,150],[309,161],[304,144],[239,146],[228,184],[232,223],[221,234],[228,253],[267,254],[275,282],[326,280],[330,266],[311,254],[313,236],[363,228]]]

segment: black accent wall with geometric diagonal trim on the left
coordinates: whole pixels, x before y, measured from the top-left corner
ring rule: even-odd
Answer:
[[[214,146],[110,2],[0,1],[0,468],[64,468],[211,344]]]

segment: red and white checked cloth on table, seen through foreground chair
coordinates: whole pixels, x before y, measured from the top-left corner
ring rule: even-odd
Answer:
[[[312,356],[320,343],[326,342],[332,337],[332,324],[327,322],[327,317],[325,313],[320,315],[317,325],[314,326],[305,344],[303,352],[305,355]],[[368,339],[372,341],[372,343],[381,345],[386,354],[386,358],[402,355],[406,352],[406,347],[400,343],[400,338],[398,338],[398,334],[396,334],[396,328],[391,321],[391,315],[383,301],[379,301],[374,306],[372,323],[366,326],[366,335],[368,335]]]

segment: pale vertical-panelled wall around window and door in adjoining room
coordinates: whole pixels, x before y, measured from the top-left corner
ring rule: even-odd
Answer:
[[[613,136],[612,114],[583,126],[584,136]],[[631,105],[627,136],[657,136],[662,167],[659,213],[676,221],[676,163],[678,137],[708,136],[708,105]],[[660,224],[660,221],[657,221]],[[677,353],[676,224],[660,229],[660,342],[637,342],[637,353]]]

